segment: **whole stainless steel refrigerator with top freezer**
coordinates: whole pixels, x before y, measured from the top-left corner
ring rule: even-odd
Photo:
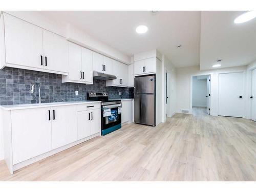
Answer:
[[[134,78],[134,122],[156,125],[156,76]]]

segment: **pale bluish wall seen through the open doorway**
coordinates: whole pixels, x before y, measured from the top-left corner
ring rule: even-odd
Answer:
[[[192,106],[207,106],[207,79],[198,79],[197,76],[193,77],[193,96]]]

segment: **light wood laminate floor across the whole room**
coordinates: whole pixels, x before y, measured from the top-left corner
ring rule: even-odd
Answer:
[[[157,127],[122,129],[9,175],[7,181],[255,181],[256,123],[176,114]]]

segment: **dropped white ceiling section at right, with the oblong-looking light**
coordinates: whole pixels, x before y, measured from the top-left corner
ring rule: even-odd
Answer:
[[[200,70],[247,65],[256,60],[256,18],[243,24],[233,20],[243,11],[202,11]]]

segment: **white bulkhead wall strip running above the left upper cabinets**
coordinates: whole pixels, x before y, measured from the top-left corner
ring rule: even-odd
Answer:
[[[37,25],[41,28],[47,29],[51,32],[66,37],[68,40],[75,42],[78,45],[116,59],[120,62],[129,64],[131,63],[131,57],[124,53],[113,49],[109,45],[93,38],[81,29],[70,25],[62,20],[52,20],[37,11],[5,11],[8,14],[24,19],[27,22]]]

